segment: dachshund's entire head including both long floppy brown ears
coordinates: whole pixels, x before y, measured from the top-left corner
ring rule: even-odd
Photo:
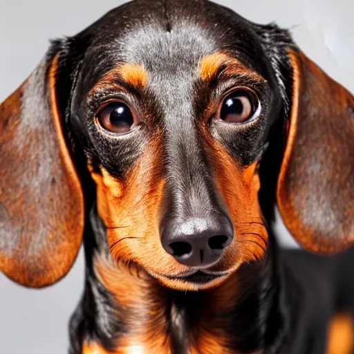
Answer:
[[[83,196],[91,193],[86,171],[113,259],[170,288],[216,286],[262,259],[262,212],[276,195],[306,248],[331,253],[353,242],[353,97],[275,26],[208,1],[133,1],[53,45],[1,109],[1,165],[18,156],[32,163],[27,184],[16,179],[26,166],[10,169],[3,182],[10,190],[21,185],[19,201],[8,192],[1,199],[9,231],[0,265],[25,285],[53,283],[71,267]],[[281,129],[270,138],[277,124],[286,145],[272,142],[281,141]],[[24,133],[31,140],[18,140]],[[74,163],[71,141],[74,155],[82,151]],[[280,153],[265,157],[268,145]],[[261,205],[260,187],[273,185]],[[48,248],[55,257],[44,256]]]

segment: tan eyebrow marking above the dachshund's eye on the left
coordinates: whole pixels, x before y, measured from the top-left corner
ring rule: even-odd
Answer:
[[[106,73],[94,88],[104,88],[105,86],[118,86],[117,80],[133,86],[133,88],[144,88],[147,85],[148,74],[144,66],[140,64],[122,64]],[[93,91],[91,89],[91,92]]]

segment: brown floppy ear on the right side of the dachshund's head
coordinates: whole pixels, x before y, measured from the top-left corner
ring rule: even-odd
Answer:
[[[277,203],[304,248],[333,254],[354,244],[354,99],[304,53],[289,55],[292,108]]]

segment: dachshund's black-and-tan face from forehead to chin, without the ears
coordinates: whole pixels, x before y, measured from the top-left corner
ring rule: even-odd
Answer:
[[[221,21],[224,10],[191,21],[187,5],[168,20],[160,6],[131,17],[132,6],[95,26],[101,45],[86,52],[73,127],[85,132],[113,258],[168,286],[210,286],[265,252],[257,165],[281,107],[277,80],[247,24]]]

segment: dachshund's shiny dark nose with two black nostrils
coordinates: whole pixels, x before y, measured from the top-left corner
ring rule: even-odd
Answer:
[[[232,242],[234,230],[227,216],[208,216],[162,226],[161,243],[176,261],[189,267],[208,267],[216,263]]]

